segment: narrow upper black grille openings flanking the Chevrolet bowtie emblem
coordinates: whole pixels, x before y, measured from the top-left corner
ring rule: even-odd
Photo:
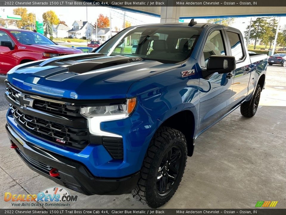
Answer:
[[[11,87],[6,87],[9,96],[13,99],[13,100],[17,100],[16,99],[16,94],[20,93],[17,90],[11,88]],[[46,113],[52,113],[52,114],[56,114],[56,115],[61,115],[61,116],[69,116],[69,117],[82,117],[80,115],[80,107],[78,106],[71,106],[71,105],[65,105],[65,104],[61,104],[61,103],[56,103],[56,102],[49,102],[46,100],[41,100],[41,99],[34,99],[34,109],[36,110],[41,110],[44,111]]]

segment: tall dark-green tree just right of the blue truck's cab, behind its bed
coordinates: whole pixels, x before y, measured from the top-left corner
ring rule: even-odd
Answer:
[[[257,42],[261,41],[262,39],[266,41],[265,37],[265,30],[268,26],[268,22],[265,17],[260,17],[254,20],[251,23],[251,30],[250,30],[250,36],[249,39],[254,40],[254,49],[256,48]],[[246,28],[246,31],[244,32],[245,38],[248,36],[249,31],[249,25]]]

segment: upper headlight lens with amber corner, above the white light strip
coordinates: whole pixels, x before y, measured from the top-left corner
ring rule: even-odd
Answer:
[[[125,118],[132,113],[136,106],[136,98],[127,99],[126,104],[83,107],[80,113],[87,117],[114,116],[113,119]],[[108,117],[110,118],[110,117]]]

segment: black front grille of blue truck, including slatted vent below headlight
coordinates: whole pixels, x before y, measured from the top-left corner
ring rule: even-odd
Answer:
[[[113,159],[123,159],[122,137],[91,135],[87,120],[80,114],[79,104],[25,95],[26,98],[34,100],[33,108],[22,108],[16,98],[17,94],[22,93],[8,82],[6,85],[7,100],[13,103],[10,104],[13,117],[27,132],[49,142],[78,150],[83,150],[90,143],[102,144]]]

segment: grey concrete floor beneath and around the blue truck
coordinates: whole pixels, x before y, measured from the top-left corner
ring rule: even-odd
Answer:
[[[237,109],[198,137],[177,192],[162,208],[254,208],[258,200],[286,208],[286,68],[268,66],[267,72],[257,114],[246,119]],[[10,149],[5,113],[0,111],[0,208],[13,208],[4,202],[5,192],[35,194],[57,185]],[[70,208],[147,208],[131,194],[69,191],[79,196]]]

